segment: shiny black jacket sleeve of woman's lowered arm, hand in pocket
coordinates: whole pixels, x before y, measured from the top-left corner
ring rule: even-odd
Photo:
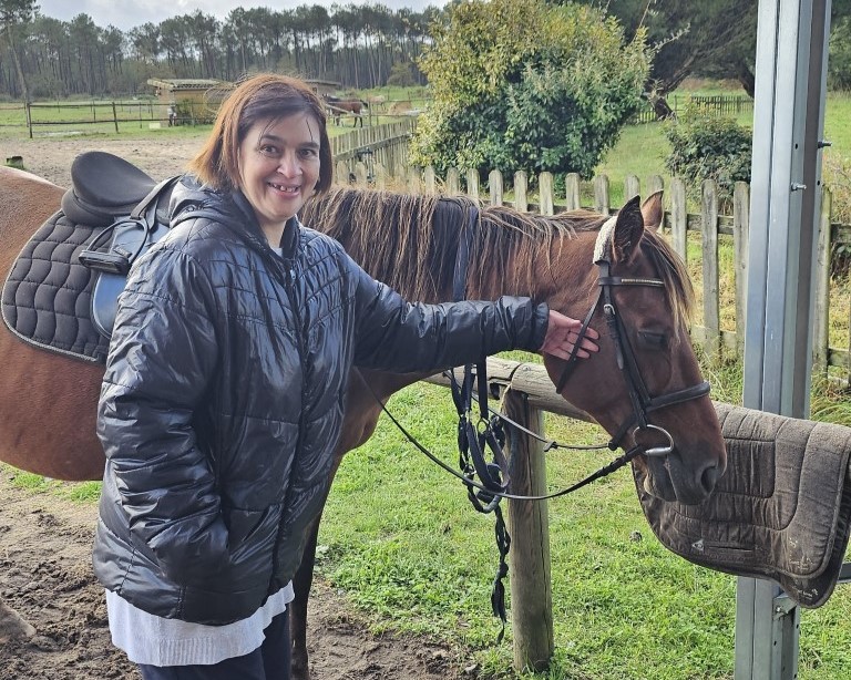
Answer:
[[[217,361],[212,286],[185,255],[143,258],[121,298],[98,411],[98,434],[131,532],[168,578],[227,559],[213,471],[193,413]]]

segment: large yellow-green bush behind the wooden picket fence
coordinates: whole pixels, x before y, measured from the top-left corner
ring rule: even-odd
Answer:
[[[420,65],[434,104],[413,164],[587,177],[640,106],[649,52],[643,32],[625,44],[595,8],[472,0],[451,9]]]

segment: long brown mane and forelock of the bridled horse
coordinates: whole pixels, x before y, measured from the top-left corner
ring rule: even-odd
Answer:
[[[370,276],[422,301],[445,300],[451,290],[464,225],[472,235],[469,284],[482,290],[498,280],[503,292],[535,297],[542,265],[550,266],[563,240],[597,230],[605,221],[588,210],[548,217],[483,206],[466,196],[350,188],[311,199],[301,219],[339,240]],[[674,313],[688,318],[694,293],[685,266],[664,238],[650,229],[645,236],[644,250],[666,284]],[[558,248],[553,249],[553,239]]]

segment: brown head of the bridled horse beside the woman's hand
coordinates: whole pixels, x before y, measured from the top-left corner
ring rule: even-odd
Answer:
[[[712,491],[727,457],[686,329],[691,286],[656,233],[662,215],[660,194],[643,206],[636,198],[598,230],[578,231],[576,247],[553,247],[551,307],[584,318],[596,305],[601,351],[571,369],[553,357],[544,363],[561,394],[616,444],[647,447],[636,459],[647,492],[694,504]]]

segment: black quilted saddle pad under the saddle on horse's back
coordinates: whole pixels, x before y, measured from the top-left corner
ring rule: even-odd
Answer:
[[[94,275],[78,261],[101,230],[59,212],[35,231],[3,285],[2,317],[13,333],[42,349],[106,361],[109,341],[90,318]]]

